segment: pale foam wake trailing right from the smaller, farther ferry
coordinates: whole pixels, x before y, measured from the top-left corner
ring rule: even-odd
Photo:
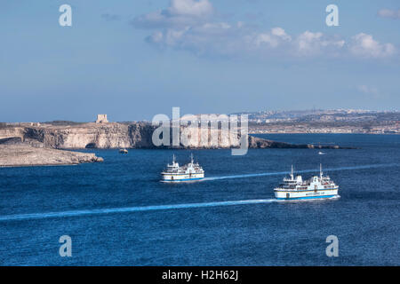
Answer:
[[[397,163],[386,163],[386,164],[331,168],[331,169],[324,169],[324,171],[363,170],[363,169],[373,169],[373,168],[394,167],[394,166],[398,166],[398,165],[399,164],[397,164]],[[318,170],[296,170],[296,173],[308,173],[308,172],[317,172],[317,171]],[[204,177],[204,179],[202,179],[202,180],[207,181],[207,180],[219,180],[219,179],[228,179],[228,178],[281,176],[281,175],[287,175],[287,173],[288,173],[288,171],[262,172],[259,174],[244,174],[244,175],[225,176],[225,177]]]

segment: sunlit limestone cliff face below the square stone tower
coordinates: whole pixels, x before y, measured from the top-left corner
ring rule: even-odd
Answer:
[[[23,142],[37,146],[82,149],[82,148],[154,148],[152,137],[156,128],[146,122],[132,123],[81,123],[76,125],[42,124],[0,128],[0,140],[20,138]],[[180,147],[188,148],[232,148],[238,147],[239,137],[228,130],[206,130],[180,128]],[[172,131],[171,131],[172,134]],[[187,138],[186,141],[183,139]],[[4,140],[10,143],[11,140]],[[172,141],[172,140],[170,140]],[[249,136],[249,148],[313,148],[312,145],[292,145]],[[0,144],[1,141],[0,141]],[[170,144],[172,145],[172,143]],[[172,146],[171,146],[172,147]],[[338,146],[319,146],[339,148]]]

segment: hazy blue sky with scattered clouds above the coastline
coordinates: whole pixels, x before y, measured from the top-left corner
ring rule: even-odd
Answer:
[[[398,0],[6,0],[0,36],[0,122],[400,105]]]

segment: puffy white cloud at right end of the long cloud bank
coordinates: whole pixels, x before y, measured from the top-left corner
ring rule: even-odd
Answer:
[[[380,43],[371,35],[360,33],[352,37],[349,50],[356,56],[364,58],[384,58],[396,53],[392,43]]]

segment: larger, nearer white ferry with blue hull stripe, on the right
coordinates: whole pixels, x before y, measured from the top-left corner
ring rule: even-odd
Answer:
[[[338,195],[339,186],[328,176],[324,176],[320,165],[319,176],[303,181],[300,175],[294,177],[293,166],[289,177],[284,177],[284,183],[274,189],[279,200],[322,199]]]

